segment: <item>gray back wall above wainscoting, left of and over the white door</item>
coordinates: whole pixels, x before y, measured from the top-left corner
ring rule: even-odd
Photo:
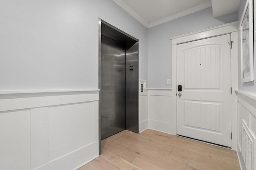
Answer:
[[[148,29],[148,87],[171,88],[167,79],[172,80],[171,37],[237,21],[238,14],[213,18],[212,8],[195,12],[176,20]]]

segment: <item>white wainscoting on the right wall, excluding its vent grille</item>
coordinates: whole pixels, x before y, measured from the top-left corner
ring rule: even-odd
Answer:
[[[244,158],[241,154],[242,149],[242,123],[248,129],[249,135],[252,136],[253,147],[252,153],[254,157],[252,158],[252,170],[256,169],[256,94],[244,92],[241,90],[236,90],[237,101],[238,101],[238,146],[237,153],[240,162],[240,167],[242,170],[246,170]]]

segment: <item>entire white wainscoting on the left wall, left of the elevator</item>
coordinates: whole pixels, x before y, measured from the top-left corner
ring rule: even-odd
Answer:
[[[98,89],[0,92],[0,170],[75,170],[98,156]]]

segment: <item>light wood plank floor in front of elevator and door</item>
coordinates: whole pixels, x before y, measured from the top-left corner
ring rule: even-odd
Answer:
[[[102,141],[102,154],[79,170],[240,170],[236,152],[147,129]]]

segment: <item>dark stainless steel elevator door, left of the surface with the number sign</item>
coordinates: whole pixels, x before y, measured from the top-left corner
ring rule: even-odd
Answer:
[[[101,37],[101,139],[125,129],[125,45]]]

